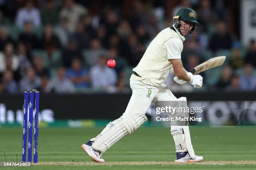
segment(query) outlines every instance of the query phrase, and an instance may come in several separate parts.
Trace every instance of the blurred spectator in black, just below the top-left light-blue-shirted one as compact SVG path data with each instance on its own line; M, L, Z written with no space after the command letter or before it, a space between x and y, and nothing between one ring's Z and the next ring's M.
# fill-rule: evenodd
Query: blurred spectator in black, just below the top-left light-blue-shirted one
M29 52L40 47L38 37L33 33L33 24L30 21L25 22L25 31L19 35L19 42L23 42Z

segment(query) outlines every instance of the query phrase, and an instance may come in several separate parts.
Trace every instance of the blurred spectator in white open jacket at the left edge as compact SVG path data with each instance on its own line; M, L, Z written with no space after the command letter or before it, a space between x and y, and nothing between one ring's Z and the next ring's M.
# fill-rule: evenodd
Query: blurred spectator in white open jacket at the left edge
M11 59L11 70L16 71L19 67L18 56L14 54L13 44L8 43L5 45L5 51L0 52L0 72L7 69L7 60Z

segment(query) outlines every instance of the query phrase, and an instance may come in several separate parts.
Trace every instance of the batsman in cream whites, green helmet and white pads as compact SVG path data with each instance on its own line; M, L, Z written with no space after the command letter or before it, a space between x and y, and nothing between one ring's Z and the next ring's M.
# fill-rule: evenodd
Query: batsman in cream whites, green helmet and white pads
M84 151L96 162L113 144L123 136L133 133L147 121L146 111L151 102L181 101L187 104L186 97L176 98L164 81L169 72L176 75L179 84L189 82L195 88L202 87L202 76L187 72L182 65L181 52L185 37L195 33L197 14L190 8L181 8L173 18L171 28L165 28L152 40L141 61L133 68L130 78L132 96L123 115L109 122L102 132L89 142L82 144ZM176 148L175 162L200 162L202 156L194 153L189 126L172 125L171 135Z

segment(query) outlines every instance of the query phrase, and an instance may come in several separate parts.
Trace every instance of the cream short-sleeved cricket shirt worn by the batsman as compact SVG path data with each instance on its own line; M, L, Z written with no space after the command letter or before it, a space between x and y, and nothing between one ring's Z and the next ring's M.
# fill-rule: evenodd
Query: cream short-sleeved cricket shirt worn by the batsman
M177 30L165 28L151 41L141 61L133 68L138 75L131 75L130 80L139 80L148 85L160 87L166 80L172 62L169 59L181 58L185 37Z

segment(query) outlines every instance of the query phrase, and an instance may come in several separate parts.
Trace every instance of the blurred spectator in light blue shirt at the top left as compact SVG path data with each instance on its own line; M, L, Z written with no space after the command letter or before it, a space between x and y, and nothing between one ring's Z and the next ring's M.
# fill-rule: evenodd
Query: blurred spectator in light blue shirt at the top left
M33 5L33 0L27 0L26 6L18 10L16 15L16 25L20 28L23 28L28 21L35 27L41 26L40 11Z

